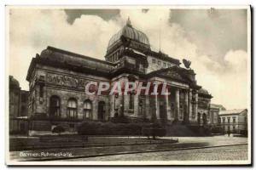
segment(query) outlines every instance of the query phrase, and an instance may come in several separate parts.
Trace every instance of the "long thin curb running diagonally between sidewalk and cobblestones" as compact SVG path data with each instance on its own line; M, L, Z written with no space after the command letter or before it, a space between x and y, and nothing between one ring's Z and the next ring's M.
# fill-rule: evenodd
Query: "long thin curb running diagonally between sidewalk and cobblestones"
M73 156L73 157L45 158L45 159L40 159L40 160L35 159L35 160L29 160L29 161L57 161L57 160L89 158L89 157L97 157L97 156L118 156L118 155L128 155L128 154L138 154L138 153L159 152L159 151L172 151L172 150L196 150L196 149L218 148L218 147L224 147L224 146L238 146L238 145L247 145L247 144L230 144L230 145L224 144L224 145L215 145L215 146L176 148L176 149L166 149L166 150L124 151L124 152L118 152L118 153L97 154L97 155L91 155L91 156Z

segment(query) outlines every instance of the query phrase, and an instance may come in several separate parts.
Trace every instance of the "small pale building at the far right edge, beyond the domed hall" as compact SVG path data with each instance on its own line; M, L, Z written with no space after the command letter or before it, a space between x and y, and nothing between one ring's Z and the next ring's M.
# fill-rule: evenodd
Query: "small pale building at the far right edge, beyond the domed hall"
M247 132L247 109L219 111L219 118L226 133Z

